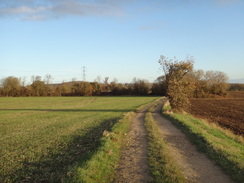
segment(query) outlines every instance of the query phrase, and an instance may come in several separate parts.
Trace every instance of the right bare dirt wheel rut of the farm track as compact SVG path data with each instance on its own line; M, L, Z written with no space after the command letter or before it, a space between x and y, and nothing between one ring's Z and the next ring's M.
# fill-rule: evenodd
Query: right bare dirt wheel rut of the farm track
M164 140L176 164L180 167L191 183L231 183L232 180L221 169L210 161L207 156L196 150L184 133L160 114L159 105L154 112L154 118L160 128Z

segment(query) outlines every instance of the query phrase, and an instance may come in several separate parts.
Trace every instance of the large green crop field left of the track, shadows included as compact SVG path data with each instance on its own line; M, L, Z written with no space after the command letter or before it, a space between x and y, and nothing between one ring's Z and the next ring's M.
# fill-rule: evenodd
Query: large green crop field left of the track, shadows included
M156 97L0 98L0 182L61 182L123 115Z

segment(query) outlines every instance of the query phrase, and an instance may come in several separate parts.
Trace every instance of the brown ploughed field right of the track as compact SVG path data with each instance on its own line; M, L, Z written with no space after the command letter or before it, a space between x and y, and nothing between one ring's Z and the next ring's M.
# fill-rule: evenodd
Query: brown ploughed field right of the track
M244 92L230 92L225 98L191 99L190 102L189 113L244 135Z

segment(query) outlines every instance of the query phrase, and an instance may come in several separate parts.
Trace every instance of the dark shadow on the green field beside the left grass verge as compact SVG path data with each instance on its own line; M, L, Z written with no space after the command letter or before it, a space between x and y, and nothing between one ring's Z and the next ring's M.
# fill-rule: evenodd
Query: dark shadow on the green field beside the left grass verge
M20 162L23 168L11 172L4 178L6 182L63 182L72 176L69 170L79 163L84 165L102 145L104 130L110 131L119 118L103 121L82 135L74 135L66 148L51 150L38 162ZM3 182L5 182L3 181ZM1 182L1 181L0 181Z

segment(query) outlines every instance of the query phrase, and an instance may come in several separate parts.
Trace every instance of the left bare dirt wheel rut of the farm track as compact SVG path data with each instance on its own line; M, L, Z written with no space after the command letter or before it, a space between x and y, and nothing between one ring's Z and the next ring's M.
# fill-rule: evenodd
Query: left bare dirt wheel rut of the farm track
M127 134L126 147L122 152L121 163L117 169L116 183L150 182L147 158L148 142L144 127L144 116L148 108L140 111L132 121Z

